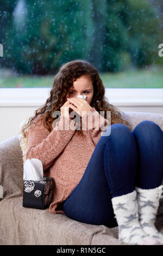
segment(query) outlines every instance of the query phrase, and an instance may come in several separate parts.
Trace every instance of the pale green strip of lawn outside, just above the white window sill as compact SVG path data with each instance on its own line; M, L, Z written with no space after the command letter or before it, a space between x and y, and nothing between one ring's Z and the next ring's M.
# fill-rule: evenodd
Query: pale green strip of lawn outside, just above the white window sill
M105 88L163 88L163 72L160 68L99 73ZM0 76L0 88L52 87L54 75Z

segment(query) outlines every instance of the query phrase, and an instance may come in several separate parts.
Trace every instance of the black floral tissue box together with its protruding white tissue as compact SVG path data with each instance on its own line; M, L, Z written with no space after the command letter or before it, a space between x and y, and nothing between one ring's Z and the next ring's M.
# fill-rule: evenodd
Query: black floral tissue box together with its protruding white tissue
M45 209L52 202L53 178L43 177L43 166L39 159L27 159L23 170L23 206Z

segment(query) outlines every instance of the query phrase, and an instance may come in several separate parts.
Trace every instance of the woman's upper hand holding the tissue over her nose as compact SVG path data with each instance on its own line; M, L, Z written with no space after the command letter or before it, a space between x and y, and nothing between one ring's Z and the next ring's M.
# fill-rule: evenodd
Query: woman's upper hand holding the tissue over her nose
M82 117L82 115L85 114L85 112L83 111L89 111L92 108L86 100L83 100L79 97L71 97L67 98L67 100L71 102L69 106L75 112L77 112L80 115L80 117Z

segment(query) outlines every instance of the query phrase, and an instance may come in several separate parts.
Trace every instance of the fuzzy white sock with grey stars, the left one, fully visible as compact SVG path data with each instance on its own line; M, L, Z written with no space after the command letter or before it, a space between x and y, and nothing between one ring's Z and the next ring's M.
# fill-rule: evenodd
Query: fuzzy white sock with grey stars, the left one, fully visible
M118 223L118 238L121 241L134 245L158 244L158 241L148 236L140 226L135 190L113 197L111 202Z

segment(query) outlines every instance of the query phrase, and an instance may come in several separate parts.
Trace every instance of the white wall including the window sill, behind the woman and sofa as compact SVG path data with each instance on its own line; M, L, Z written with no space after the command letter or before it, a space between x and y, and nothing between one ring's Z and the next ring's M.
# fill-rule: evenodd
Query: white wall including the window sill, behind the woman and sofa
M22 120L45 103L51 88L0 88L0 142L18 134ZM106 89L109 103L120 111L163 114L163 89Z

